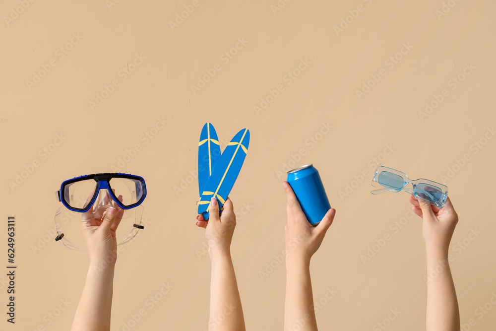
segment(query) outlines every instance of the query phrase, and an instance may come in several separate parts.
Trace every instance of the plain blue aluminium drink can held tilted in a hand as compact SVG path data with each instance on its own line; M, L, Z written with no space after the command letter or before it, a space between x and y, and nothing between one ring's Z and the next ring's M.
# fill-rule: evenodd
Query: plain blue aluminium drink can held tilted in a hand
M288 183L312 226L331 208L317 169L311 164L288 171Z

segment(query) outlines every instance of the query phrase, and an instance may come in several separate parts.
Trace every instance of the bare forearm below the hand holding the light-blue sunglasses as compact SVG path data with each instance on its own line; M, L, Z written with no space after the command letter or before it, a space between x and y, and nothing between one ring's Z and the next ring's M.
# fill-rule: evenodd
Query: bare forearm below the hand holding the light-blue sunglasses
M430 276L431 273L434 276ZM427 247L427 331L460 330L460 313L448 254Z

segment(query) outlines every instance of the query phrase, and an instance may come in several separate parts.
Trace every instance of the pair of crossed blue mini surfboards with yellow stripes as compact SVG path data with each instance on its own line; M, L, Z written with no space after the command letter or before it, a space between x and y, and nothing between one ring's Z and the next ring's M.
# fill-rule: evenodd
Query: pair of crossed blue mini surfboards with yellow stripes
M238 178L238 175L248 153L249 130L243 129L231 139L229 144L220 151L219 138L211 123L206 123L201 129L198 143L198 189L200 201L198 214L204 219L210 217L208 209L210 199L216 198L219 209L226 201Z

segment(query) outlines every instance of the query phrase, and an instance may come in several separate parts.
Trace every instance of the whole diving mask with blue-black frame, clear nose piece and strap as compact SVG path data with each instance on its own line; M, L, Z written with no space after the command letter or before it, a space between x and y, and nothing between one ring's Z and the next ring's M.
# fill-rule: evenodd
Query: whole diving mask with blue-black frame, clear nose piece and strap
M124 173L104 173L75 177L64 181L60 191L57 192L57 199L62 202L55 214L57 227L56 241L76 251L84 251L80 247L85 247L82 236L78 240L70 242L65 233L80 233L79 221L90 221L103 219L107 210L113 206L119 206L118 217L122 220L133 222L131 231L119 244L122 245L131 240L141 225L143 206L141 203L146 197L145 181L142 177ZM127 222L128 223L128 222ZM62 232L62 226L64 232ZM121 225L122 226L122 225ZM74 236L75 238L76 236Z

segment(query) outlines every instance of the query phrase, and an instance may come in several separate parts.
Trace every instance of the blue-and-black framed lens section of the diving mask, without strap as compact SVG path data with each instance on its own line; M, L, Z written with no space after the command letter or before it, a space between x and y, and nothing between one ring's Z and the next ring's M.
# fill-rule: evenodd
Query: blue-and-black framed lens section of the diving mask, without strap
M141 204L146 197L145 180L140 176L123 173L93 174L64 181L57 198L67 209L88 211L100 190L107 190L122 209Z

